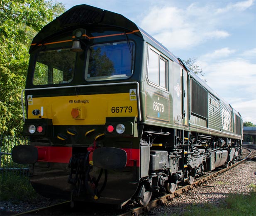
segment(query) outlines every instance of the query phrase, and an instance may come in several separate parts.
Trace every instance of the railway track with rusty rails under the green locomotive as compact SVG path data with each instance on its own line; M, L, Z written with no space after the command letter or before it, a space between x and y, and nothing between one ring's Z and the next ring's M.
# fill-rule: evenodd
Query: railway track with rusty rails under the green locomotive
M247 148L244 148L247 149ZM20 214L16 214L16 216L20 215L115 215L118 214L119 216L125 216L125 215L139 215L142 213L148 213L151 208L154 208L158 205L164 205L165 202L173 200L175 197L179 197L180 194L185 193L189 190L193 190L194 188L197 188L199 186L209 186L207 185L207 181L209 181L212 178L217 177L218 175L226 172L227 170L230 170L234 168L235 166L239 165L240 163L243 163L246 161L246 159L253 157L256 155L256 150L247 149L249 153L244 153L246 155L241 161L232 164L231 166L224 168L222 170L218 170L215 173L211 173L207 176L202 176L198 180L195 180L192 185L185 185L183 187L180 187L178 190L176 190L173 194L165 194L161 197L158 197L151 202L147 206L137 206L135 208L127 207L125 206L125 209L122 209L122 213L113 211L114 207L109 205L103 205L101 208L97 206L97 204L83 204L78 205L75 208L71 208L70 201L66 201L60 204L55 204L51 206L46 206L44 208L34 209L32 211L23 212ZM129 208L129 210L127 210ZM95 211L97 209L97 211ZM99 209L104 209L103 211L99 211Z

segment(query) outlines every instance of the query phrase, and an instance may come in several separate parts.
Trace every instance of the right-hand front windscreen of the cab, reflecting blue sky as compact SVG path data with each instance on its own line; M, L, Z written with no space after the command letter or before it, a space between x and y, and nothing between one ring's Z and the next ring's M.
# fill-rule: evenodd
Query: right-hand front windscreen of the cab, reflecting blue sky
M90 46L87 52L87 81L127 79L133 74L134 43L121 41Z

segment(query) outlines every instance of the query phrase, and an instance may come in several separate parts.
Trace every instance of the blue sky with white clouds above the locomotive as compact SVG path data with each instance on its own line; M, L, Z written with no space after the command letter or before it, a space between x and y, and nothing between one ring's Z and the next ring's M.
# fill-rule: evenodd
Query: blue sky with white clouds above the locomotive
M256 124L256 0L57 0L124 15L182 60Z

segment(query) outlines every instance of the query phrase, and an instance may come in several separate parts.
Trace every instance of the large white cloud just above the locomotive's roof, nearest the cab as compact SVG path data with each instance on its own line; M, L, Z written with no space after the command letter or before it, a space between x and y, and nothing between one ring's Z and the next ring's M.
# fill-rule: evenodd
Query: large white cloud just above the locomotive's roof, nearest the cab
M139 25L170 50L188 49L230 36L227 31L217 29L216 17L211 17L211 10L196 4L186 9L153 7Z

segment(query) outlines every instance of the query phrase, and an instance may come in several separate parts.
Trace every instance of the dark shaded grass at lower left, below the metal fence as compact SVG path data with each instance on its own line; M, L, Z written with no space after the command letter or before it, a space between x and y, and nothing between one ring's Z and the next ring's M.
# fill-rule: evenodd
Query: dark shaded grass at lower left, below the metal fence
M37 192L35 192L27 176L20 176L12 173L0 176L1 201L31 201L36 197Z

